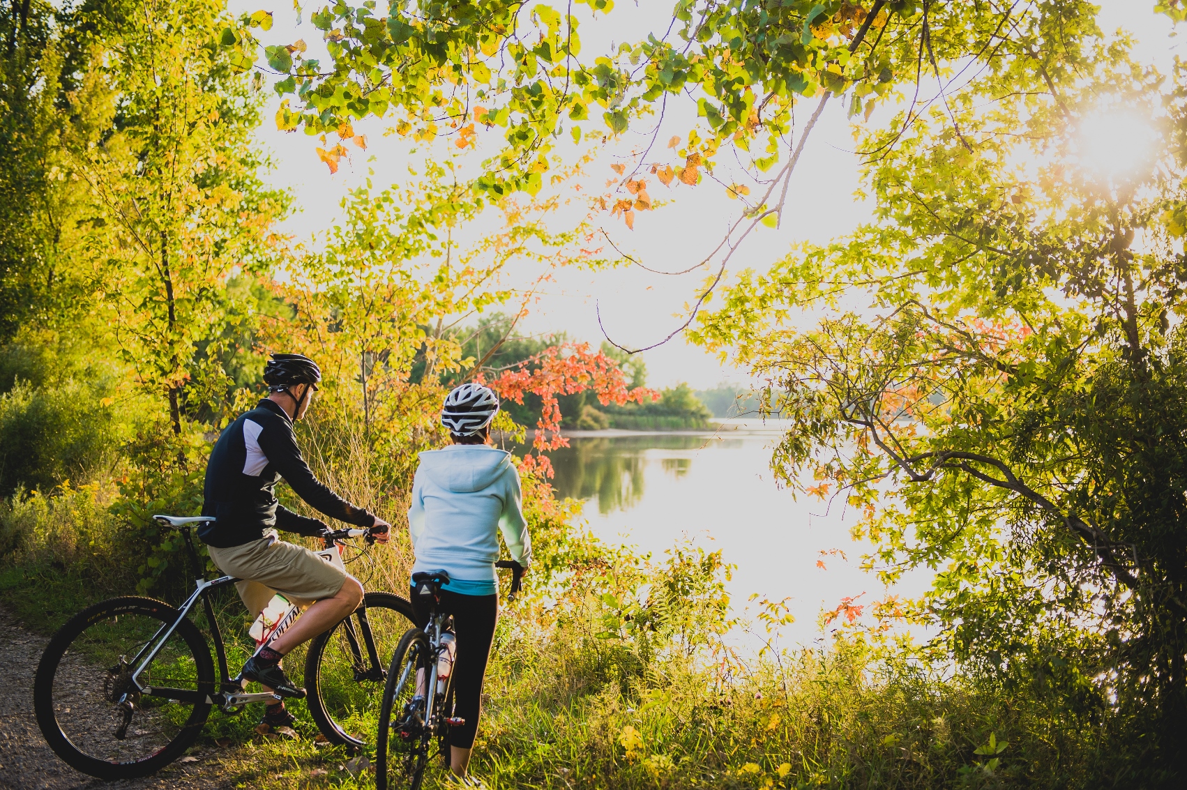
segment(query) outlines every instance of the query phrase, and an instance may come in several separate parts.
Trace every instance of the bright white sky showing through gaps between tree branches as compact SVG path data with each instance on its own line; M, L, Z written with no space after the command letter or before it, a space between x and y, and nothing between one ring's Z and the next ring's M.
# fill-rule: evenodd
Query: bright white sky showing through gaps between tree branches
M631 28L635 32L629 38L637 39L647 30L662 32L666 28L669 2L636 2L637 6L631 8L620 0L618 9L608 21L604 18L583 21L583 55L605 51L616 31ZM1181 44L1173 36L1169 20L1153 13L1153 5L1154 0L1105 0L1102 2L1100 25L1105 31L1124 27L1136 34L1140 57L1168 72L1173 57L1181 52ZM291 43L303 38L310 45L311 56L322 50L319 31L307 21L315 7L320 7L319 2L307 4L304 14L306 21L299 26L294 24L296 13L287 0L230 2L230 11L235 14L260 7L274 12L273 28L261 36L264 43ZM588 6L577 8L584 12L584 19L588 20ZM353 153L351 160L344 159L337 174L331 176L315 152L317 138L277 132L271 119L279 101L274 94L269 96L266 120L259 133L261 142L272 151L277 163L275 170L267 178L294 193L299 211L288 221L286 229L298 238L307 238L310 234L332 225L338 216L342 196L362 184L369 168L375 171L373 183L376 187L382 187L406 179L407 166L423 161L426 153L430 153L424 147L420 152L412 153L408 141L396 135L383 136L391 121L372 119L355 127L356 133L367 134L368 151ZM805 107L808 104L814 107L814 102L806 102ZM806 116L811 110L801 112ZM886 112L888 114L889 110ZM671 135L686 135L692 120L688 114L677 116L669 112L660 130L660 142L649 158L661 159L667 151L664 141ZM871 120L877 122L878 113ZM496 127L489 134L493 136L499 132ZM650 129L646 132L649 133ZM645 147L647 139L649 134L645 135L642 130L628 132L622 141L605 151L590 166L591 176L585 181L588 187L602 191L604 180L612 176L609 165L631 149ZM834 101L818 122L793 176L783 225L777 230L760 228L735 255L731 268L766 268L785 255L795 242L824 243L868 219L868 206L853 195L858 189L858 159L851 153L851 148L852 138L844 110L840 102ZM434 147L431 155L444 155L443 152L449 151L457 149L446 142ZM737 178L722 170L718 176ZM737 202L725 198L724 190L707 181L696 189L681 186L678 190L666 190L656 180L649 179L648 191L653 199L674 198L674 203L654 212L636 212L633 231L627 230L620 218L611 218L609 215L603 215L603 225L620 248L656 269L684 269L697 262L723 238L740 208ZM615 340L627 346L649 345L681 323L683 319L675 314L691 300L704 276L703 272L674 278L650 274L637 267L601 273L561 270L553 282L544 287L522 329L526 333L563 330L576 339L590 340L596 345L602 339L602 332L595 306L601 305L603 324ZM520 267L510 276L526 282L532 274L526 267ZM694 388L706 388L719 381L747 381L743 372L722 365L700 349L685 343L681 337L645 352L643 358L648 368L648 383L655 387L687 381Z

